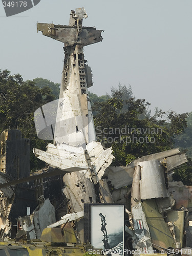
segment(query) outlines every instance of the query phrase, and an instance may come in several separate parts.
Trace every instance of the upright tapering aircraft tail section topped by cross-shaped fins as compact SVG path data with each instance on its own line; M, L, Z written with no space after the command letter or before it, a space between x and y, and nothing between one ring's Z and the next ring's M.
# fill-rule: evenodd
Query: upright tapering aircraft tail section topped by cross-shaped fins
M71 11L69 26L37 23L43 35L65 43L65 60L54 132L56 145L82 146L96 140L88 88L93 85L83 47L102 41L102 30L82 27L84 8Z

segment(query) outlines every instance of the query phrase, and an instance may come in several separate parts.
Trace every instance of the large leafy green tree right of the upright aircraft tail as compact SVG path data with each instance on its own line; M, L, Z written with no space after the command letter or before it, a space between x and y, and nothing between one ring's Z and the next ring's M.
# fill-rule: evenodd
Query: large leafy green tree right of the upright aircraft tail
M123 90L121 90L123 89ZM132 94L130 94L132 96ZM124 88L113 89L113 97L95 102L93 110L97 139L113 148L113 165L126 165L136 158L170 150L174 135L183 132L187 114L158 111L150 117L150 103L135 97L124 98ZM142 115L142 118L141 118ZM166 116L165 120L157 117Z

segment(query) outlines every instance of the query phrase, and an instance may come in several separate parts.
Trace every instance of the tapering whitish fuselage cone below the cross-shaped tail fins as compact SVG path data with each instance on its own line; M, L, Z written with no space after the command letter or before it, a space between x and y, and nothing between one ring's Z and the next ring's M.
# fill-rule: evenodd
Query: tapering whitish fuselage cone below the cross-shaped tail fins
M85 148L86 144L96 140L96 135L90 104L88 108L88 89L85 76L84 94L82 94L80 87L79 45L76 45L74 48L75 50L71 50L68 59L67 84L64 84L65 77L61 81L54 141L56 144L66 143ZM82 67L84 67L84 61L82 61ZM64 70L65 66L63 68L63 75L65 75Z

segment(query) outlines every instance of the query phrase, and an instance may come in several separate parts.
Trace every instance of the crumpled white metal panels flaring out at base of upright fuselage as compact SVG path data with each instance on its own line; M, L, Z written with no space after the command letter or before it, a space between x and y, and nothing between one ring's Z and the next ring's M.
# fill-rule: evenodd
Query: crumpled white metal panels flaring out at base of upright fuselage
M84 169L93 167L95 174L98 176L98 181L103 176L106 167L113 161L114 156L111 154L112 148L103 150L100 142L92 141L86 146L86 149L92 166L89 166L82 146L77 147L67 144L54 146L49 143L46 152L37 148L34 148L33 152L40 160L60 169L66 169L72 166L82 167Z

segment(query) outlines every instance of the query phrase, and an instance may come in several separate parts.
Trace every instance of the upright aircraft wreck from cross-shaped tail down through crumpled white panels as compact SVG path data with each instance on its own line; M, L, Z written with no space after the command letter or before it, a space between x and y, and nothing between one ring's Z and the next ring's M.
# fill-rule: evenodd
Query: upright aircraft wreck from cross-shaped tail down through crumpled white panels
M82 20L86 17L84 8L79 8L76 12L71 11L69 26L37 23L37 30L43 35L65 44L55 123L46 119L49 117L47 112L42 115L41 111L37 111L34 115L40 136L54 131L54 143L48 144L46 152L34 148L34 154L61 170L73 166L84 168L63 177L62 191L67 201L68 214L81 212L84 203L113 203L108 184L102 176L114 156L112 148L104 149L96 141L88 93L88 88L93 85L92 73L83 53L83 47L102 41L102 30L83 27ZM83 242L83 220L71 225L76 230L79 242Z

